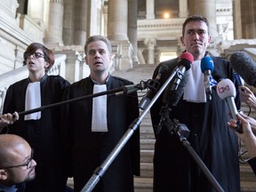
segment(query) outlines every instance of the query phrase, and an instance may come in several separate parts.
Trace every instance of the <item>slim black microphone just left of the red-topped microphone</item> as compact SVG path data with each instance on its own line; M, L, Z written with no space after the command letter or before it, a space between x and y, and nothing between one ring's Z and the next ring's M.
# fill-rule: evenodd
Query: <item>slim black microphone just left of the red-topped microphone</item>
M145 108L147 108L148 103L152 100L156 92L159 90L160 79L168 69L169 68L166 65L161 65L160 68L158 68L158 74L155 80L148 80L147 86L150 89L150 91L147 93L145 97L142 98L142 100L140 100L140 104L139 104L140 109L144 110Z

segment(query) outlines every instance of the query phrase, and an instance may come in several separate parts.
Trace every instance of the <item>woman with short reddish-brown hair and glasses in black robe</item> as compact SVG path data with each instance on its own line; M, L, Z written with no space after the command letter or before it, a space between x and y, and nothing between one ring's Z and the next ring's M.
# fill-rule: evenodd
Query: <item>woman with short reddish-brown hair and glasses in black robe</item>
M43 44L30 44L24 52L24 62L28 66L28 78L8 88L4 113L25 111L29 109L26 107L29 104L41 107L60 102L64 89L69 85L61 76L46 75L54 63L54 54ZM33 85L37 88L29 91L28 86ZM36 96L33 96L34 93ZM40 97L41 100L38 100ZM9 126L10 133L23 137L35 151L36 180L26 183L26 191L63 192L68 174L60 139L60 108L49 108L34 115L20 116L19 121Z

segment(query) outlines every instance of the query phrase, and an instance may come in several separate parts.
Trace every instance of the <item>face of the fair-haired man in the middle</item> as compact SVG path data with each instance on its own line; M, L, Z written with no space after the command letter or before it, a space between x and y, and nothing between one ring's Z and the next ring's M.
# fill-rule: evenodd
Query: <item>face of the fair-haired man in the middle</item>
M85 60L92 73L108 72L111 54L108 51L107 44L102 41L88 44Z

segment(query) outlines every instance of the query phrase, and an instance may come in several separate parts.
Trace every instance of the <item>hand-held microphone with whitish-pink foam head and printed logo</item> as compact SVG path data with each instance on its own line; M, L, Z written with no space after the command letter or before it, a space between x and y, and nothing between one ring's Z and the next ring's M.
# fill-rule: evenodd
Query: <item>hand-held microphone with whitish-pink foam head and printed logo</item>
M241 122L237 118L237 108L235 103L236 87L230 79L223 79L217 84L217 93L221 100L226 100L233 119L236 119L236 132L243 133Z

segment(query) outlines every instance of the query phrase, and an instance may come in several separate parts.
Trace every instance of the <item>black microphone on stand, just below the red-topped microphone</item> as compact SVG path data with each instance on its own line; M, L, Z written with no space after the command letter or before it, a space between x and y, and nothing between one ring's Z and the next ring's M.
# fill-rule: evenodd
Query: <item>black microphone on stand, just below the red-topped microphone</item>
M188 71L185 71L184 76L180 81L180 86L178 86L177 90L172 90L172 84L168 84L168 86L166 87L163 96L163 102L165 105L161 108L161 111L159 113L159 115L162 117L157 126L156 134L158 134L161 131L162 126L164 124L172 124L169 115L170 112L172 111L172 107L177 106L181 96L184 93L184 87L188 83L188 76ZM170 129L170 127L167 128Z

